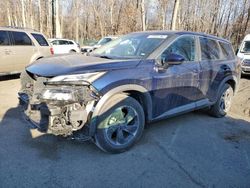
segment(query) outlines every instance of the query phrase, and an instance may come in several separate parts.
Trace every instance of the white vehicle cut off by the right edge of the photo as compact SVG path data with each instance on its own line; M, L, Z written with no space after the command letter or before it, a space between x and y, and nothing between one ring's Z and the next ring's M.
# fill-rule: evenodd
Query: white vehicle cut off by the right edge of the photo
M242 74L250 75L250 34L247 35L241 43L237 56L242 61Z

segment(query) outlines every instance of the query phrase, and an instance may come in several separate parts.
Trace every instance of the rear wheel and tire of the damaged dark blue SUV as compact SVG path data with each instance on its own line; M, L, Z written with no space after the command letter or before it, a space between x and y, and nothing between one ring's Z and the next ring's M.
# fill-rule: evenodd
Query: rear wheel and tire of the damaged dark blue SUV
M219 94L216 103L211 106L209 113L217 118L224 117L231 108L233 98L233 88L229 84L225 84Z

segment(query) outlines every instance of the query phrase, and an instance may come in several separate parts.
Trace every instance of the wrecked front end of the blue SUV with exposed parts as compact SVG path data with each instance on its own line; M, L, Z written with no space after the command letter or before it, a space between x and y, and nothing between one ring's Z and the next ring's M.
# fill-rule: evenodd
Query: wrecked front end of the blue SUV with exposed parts
M20 105L27 119L40 131L70 136L88 125L92 110L99 100L98 92L85 75L38 77L21 74Z

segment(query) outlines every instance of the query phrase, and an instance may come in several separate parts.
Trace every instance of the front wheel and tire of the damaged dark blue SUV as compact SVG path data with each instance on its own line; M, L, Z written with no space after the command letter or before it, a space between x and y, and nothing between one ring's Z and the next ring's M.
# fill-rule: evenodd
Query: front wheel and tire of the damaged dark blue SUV
M139 140L144 124L144 111L137 100L124 94L114 95L98 114L96 145L105 152L124 152Z

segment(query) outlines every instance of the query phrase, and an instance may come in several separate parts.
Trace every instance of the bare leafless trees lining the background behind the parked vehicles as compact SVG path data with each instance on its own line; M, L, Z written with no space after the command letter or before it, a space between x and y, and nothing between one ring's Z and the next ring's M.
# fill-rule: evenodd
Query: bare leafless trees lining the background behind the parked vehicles
M0 25L78 42L143 30L188 30L229 39L250 33L250 0L1 0Z

